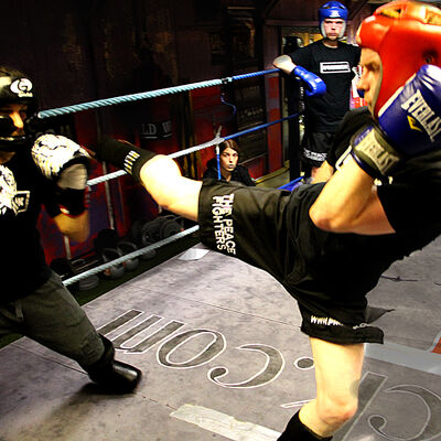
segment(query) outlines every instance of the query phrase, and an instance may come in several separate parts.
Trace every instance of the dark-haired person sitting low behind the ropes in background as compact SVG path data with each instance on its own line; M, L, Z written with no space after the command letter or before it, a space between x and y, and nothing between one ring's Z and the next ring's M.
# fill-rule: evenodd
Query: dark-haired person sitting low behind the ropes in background
M238 165L239 146L233 139L228 139L219 144L219 163L220 163L220 180L227 182L239 182L247 186L255 186L256 183L249 175L248 169L244 165ZM218 179L217 159L212 158L207 162L203 179Z

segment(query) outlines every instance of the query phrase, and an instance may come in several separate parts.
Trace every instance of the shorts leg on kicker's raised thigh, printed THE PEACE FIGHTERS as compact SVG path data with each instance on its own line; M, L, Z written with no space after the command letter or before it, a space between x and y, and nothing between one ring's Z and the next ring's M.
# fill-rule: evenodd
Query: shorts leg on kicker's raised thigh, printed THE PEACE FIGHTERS
M286 209L290 195L281 190L205 180L198 204L202 243L280 280L288 243Z

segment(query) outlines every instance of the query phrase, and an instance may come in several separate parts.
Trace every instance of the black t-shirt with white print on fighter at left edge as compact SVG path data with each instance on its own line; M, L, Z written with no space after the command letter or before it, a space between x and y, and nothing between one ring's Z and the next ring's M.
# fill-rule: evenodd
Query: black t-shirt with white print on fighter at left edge
M0 164L1 303L32 293L50 276L36 229L42 204L51 216L60 214L53 184L29 150Z

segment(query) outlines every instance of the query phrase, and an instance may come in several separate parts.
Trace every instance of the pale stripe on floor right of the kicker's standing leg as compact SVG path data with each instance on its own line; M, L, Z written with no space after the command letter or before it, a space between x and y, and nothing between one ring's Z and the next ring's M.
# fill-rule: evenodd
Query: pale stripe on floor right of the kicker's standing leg
M365 344L365 355L380 362L441 375L441 355L396 343Z

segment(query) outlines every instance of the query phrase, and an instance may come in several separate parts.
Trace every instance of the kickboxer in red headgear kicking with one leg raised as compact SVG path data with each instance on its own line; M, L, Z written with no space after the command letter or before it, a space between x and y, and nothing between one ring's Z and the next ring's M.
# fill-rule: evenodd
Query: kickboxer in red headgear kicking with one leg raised
M292 193L193 181L172 159L127 142L94 147L159 205L197 220L207 247L266 270L298 301L316 396L280 441L331 440L355 416L364 344L384 342L367 294L392 262L441 234L440 35L441 11L413 1L362 23L358 87L372 115L362 127L345 117L334 173Z

